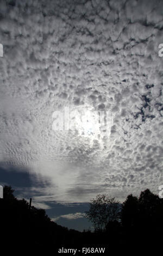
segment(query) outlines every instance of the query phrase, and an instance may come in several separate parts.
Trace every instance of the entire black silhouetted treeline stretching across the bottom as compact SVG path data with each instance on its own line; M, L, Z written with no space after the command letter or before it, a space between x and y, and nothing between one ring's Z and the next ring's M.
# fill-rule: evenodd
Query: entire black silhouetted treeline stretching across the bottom
M59 248L105 247L105 254L115 254L130 249L158 248L163 241L163 199L149 190L140 193L139 197L130 194L120 205L110 201L116 218L106 221L106 210L109 204L101 201L101 223L104 228L94 232L68 230L51 221L45 210L29 207L29 203L14 197L14 190L4 186L4 198L0 199L1 248L8 252L26 253L45 252L58 254ZM96 206L97 202L95 200ZM115 205L118 205L118 214ZM98 205L99 206L99 205ZM104 207L105 206L105 207ZM91 209L91 208L90 208ZM97 210L97 208L93 208ZM121 209L121 210L120 210ZM95 211L95 218L99 208ZM110 211L111 213L113 211ZM109 213L110 214L110 213ZM99 223L99 221L98 221ZM100 224L100 223L99 223ZM23 250L23 251L22 251ZM66 254L72 255L72 254ZM83 255L78 252L77 255Z

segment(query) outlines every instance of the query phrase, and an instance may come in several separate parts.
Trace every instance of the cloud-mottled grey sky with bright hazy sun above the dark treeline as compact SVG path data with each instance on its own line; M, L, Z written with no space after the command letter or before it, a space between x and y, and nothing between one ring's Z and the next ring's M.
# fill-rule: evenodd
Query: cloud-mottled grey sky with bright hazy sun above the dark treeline
M97 194L158 194L162 29L158 0L1 0L0 184L78 230Z

